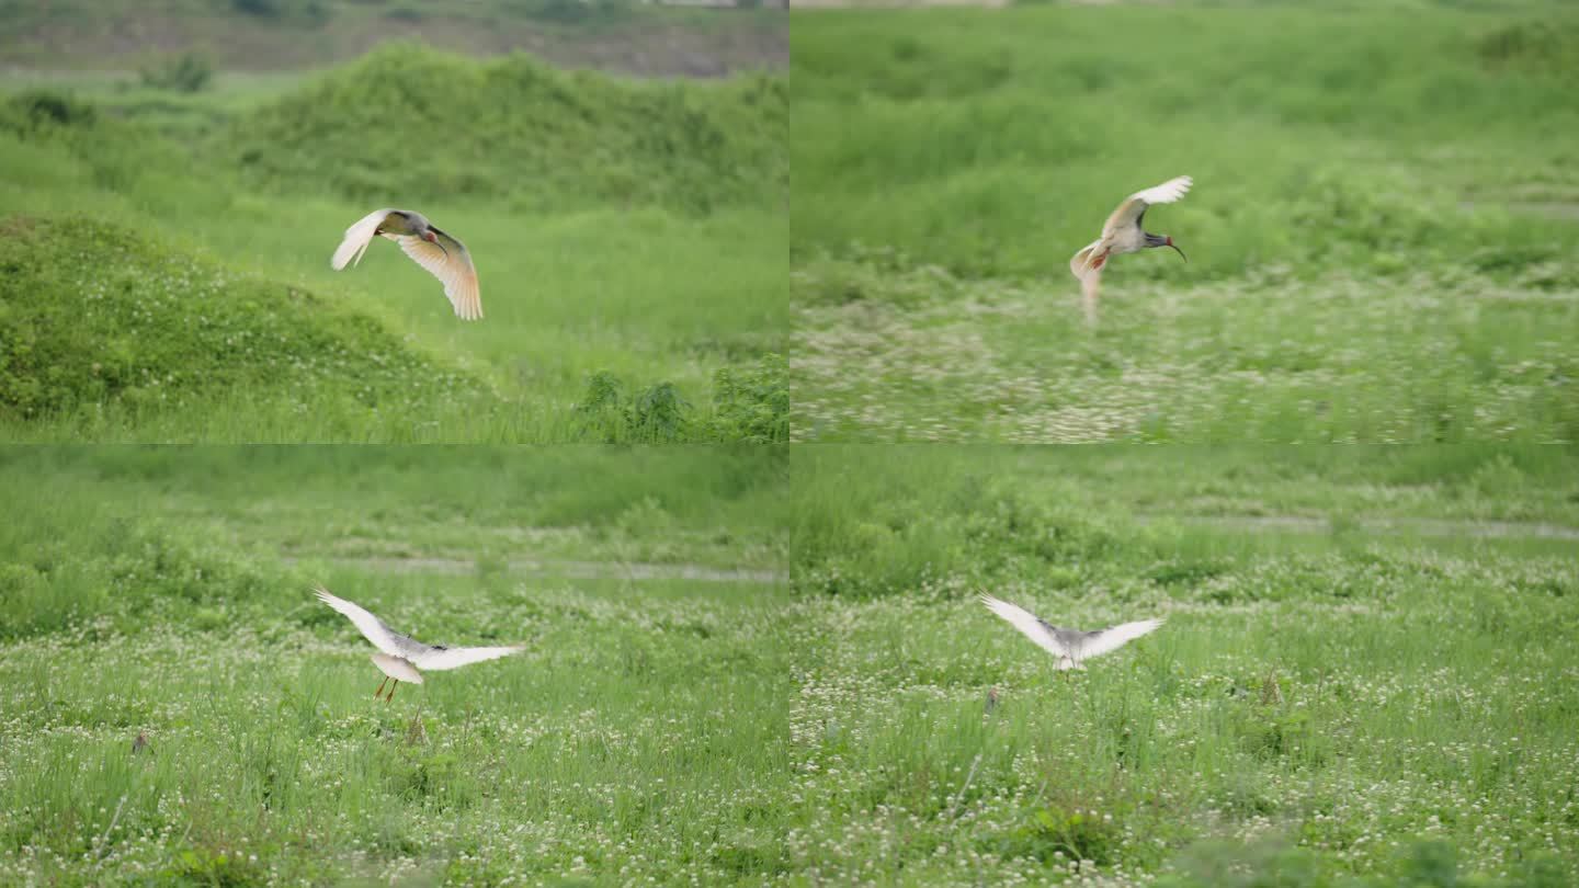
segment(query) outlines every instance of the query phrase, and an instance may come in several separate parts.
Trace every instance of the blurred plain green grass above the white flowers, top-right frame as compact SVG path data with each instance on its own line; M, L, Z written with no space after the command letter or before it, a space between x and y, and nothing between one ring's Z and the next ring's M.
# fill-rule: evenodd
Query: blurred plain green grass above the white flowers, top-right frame
M1189 265L1113 281L1571 256L1579 19L1374 6L797 16L796 256L1067 280L1126 194L1183 174L1146 223Z

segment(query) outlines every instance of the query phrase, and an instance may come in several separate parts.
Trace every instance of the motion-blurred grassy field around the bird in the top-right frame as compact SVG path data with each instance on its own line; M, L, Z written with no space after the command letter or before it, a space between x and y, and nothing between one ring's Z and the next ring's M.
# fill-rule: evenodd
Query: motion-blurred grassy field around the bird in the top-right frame
M793 16L796 439L1579 438L1573 11L1202 6Z

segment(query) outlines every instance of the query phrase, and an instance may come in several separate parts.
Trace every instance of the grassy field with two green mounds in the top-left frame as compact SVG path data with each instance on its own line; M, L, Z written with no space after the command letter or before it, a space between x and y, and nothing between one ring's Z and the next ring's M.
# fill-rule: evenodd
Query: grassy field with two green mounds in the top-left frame
M0 107L0 226L21 232L6 438L788 436L777 77L643 84L406 44L193 96L38 82ZM392 204L467 243L485 321L456 321L393 245L328 269Z

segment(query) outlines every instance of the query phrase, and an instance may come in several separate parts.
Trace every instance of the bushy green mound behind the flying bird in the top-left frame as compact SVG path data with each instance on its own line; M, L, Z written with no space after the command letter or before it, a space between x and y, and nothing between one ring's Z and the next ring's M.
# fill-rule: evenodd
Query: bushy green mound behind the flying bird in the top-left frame
M706 212L783 205L786 137L775 77L649 84L390 44L242 117L227 145L262 180L352 199Z

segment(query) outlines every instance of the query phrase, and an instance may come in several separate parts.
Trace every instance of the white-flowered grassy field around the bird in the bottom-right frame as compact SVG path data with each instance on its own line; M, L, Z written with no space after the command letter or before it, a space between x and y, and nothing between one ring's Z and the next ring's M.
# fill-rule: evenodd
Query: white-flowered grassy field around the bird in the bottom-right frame
M1574 468L1551 449L797 449L786 866L1571 883ZM1391 531L1367 531L1380 515ZM1061 676L976 588L1064 626L1168 621Z

